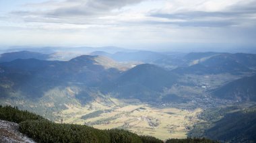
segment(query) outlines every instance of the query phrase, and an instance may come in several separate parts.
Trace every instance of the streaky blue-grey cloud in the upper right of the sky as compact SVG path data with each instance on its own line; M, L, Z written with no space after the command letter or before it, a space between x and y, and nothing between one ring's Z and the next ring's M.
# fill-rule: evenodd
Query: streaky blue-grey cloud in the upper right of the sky
M205 3L201 3L204 5ZM163 24L178 26L226 27L242 26L244 23L255 23L256 1L238 2L218 11L199 11L199 9L181 9L179 11L154 11L150 17L179 19L182 22L162 21ZM253 18L254 17L254 18ZM159 22L160 23L160 22Z

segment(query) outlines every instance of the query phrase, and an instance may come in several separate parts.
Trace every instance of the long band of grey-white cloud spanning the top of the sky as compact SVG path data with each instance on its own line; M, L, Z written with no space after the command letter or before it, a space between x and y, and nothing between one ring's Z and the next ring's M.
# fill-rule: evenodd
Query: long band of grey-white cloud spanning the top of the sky
M147 0L65 0L26 5L30 11L11 14L27 22L99 25L174 25L190 27L227 27L255 24L255 0L168 0L160 9L124 9ZM149 0L148 0L149 1ZM48 7L48 8L47 8ZM137 18L139 17L139 18Z

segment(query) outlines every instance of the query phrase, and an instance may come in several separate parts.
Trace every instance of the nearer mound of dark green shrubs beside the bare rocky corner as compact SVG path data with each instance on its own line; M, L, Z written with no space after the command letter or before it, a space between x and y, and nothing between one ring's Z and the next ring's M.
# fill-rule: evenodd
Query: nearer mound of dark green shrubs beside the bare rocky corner
M56 124L49 121L26 121L20 131L37 142L142 142L137 134L126 130L98 130L75 124Z

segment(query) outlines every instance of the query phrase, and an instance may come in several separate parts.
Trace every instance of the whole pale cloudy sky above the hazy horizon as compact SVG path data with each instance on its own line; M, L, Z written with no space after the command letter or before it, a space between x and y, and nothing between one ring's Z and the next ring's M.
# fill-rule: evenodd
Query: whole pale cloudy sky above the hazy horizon
M0 0L0 46L256 47L256 0Z

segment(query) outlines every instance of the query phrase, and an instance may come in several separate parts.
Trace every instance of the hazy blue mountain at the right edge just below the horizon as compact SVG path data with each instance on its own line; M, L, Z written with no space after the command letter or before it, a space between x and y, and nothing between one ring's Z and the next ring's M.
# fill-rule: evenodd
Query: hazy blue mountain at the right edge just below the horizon
M252 72L255 68L255 54L229 54L229 53L190 53L185 57L184 67L174 69L180 74L222 74L239 75Z

